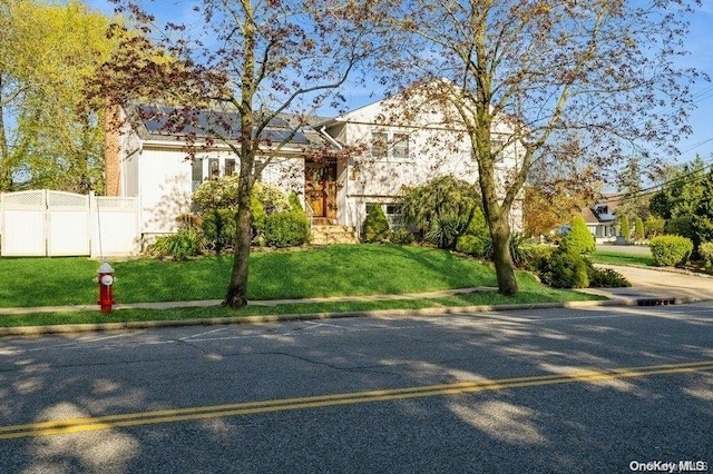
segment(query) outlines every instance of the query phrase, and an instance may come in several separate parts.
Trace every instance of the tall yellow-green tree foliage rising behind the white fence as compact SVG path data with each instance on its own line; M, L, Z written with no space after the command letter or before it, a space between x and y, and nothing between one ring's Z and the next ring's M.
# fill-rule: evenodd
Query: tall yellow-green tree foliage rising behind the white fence
M104 189L102 120L80 106L109 23L76 0L0 2L0 191L20 170L35 188Z

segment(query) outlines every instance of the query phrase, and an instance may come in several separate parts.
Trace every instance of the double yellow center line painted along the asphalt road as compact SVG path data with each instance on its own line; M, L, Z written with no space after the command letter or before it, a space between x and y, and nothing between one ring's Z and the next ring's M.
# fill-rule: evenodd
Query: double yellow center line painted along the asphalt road
M196 406L188 408L160 409L152 412L127 413L85 418L51 419L22 425L0 426L0 440L19 437L51 436L128 426L141 426L162 423L176 423L229 416L246 416L264 413L287 412L307 408L322 408L339 405L355 405L368 402L390 402L408 398L422 398L448 395L462 395L476 392L507 388L534 387L541 385L594 383L618 378L646 377L651 375L680 374L713 369L713 361L687 364L667 364L645 367L616 369L587 369L566 374L537 375L531 377L499 378L495 381L460 382L452 384L426 385L416 387L352 392L330 395L316 395L297 398L243 402L226 405Z

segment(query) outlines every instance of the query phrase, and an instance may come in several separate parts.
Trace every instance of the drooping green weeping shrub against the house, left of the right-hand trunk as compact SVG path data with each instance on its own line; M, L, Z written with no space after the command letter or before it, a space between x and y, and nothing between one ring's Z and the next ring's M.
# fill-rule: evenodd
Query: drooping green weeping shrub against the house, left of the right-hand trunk
M475 185L451 176L404 187L402 196L403 221L418 228L428 241L448 249L456 248L481 204Z

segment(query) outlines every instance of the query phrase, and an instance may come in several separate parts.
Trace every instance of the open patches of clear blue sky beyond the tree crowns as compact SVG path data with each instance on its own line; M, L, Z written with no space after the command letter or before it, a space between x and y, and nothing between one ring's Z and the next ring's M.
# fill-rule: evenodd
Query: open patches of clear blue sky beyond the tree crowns
M92 9L107 14L114 12L114 4L108 0L86 1ZM146 2L147 9L159 22L178 23L191 19L192 11L188 3L180 0ZM691 20L691 33L686 45L691 55L682 59L682 66L693 66L713 79L713 0L702 0L701 8ZM678 146L681 156L676 161L690 161L696 154L707 161L713 161L713 82L701 80L692 87L692 91L696 102L696 107L690 111L693 135L681 141ZM348 109L353 110L381 99L381 93L373 88L352 87L346 90L345 98Z

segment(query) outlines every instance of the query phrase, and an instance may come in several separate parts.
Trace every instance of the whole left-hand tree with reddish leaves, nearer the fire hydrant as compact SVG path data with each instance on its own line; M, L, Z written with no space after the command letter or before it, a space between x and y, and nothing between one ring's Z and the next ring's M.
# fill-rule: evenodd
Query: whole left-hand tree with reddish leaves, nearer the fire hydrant
M222 141L240 158L238 231L224 304L243 306L255 177L310 117L328 106L339 108L348 77L359 75L375 49L389 46L382 41L388 31L372 21L382 12L353 0L206 0L194 2L191 24L159 29L137 4L121 3L119 11L130 13L156 46L143 34L123 33L124 46L90 89L117 103L166 102L170 91L170 101L180 107L166 127L195 125L206 107L223 111L211 127L204 124L208 138L202 145ZM285 113L291 131L270 134L270 125Z

